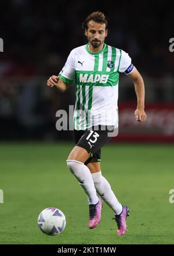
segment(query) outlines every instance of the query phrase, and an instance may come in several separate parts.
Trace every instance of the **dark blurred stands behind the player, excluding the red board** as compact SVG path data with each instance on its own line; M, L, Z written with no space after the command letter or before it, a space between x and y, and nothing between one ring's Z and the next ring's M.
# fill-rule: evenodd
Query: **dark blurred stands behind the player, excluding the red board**
M147 102L173 101L174 53L169 52L169 38L173 37L174 22L172 8L164 1L146 4L110 1L105 5L100 1L90 4L77 0L3 1L1 139L59 138L55 113L74 103L74 85L63 95L46 88L46 80L59 73L71 49L86 44L81 24L95 10L104 12L109 19L106 43L128 52L133 64L149 81L147 92L154 89L147 94ZM135 100L131 82L123 81L119 99Z

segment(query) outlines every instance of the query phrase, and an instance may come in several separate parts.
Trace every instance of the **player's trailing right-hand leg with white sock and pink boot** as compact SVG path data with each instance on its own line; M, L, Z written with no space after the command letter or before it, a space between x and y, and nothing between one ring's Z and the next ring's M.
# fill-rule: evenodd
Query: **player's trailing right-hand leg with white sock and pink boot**
M99 155L97 158L99 158ZM126 232L126 217L129 216L129 209L125 205L120 204L117 197L115 197L110 184L105 177L102 176L100 162L89 162L87 166L92 174L97 193L102 197L106 204L113 209L115 214L114 219L118 226L117 234L122 236Z

